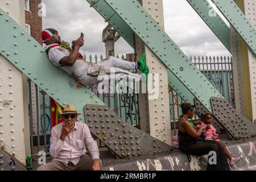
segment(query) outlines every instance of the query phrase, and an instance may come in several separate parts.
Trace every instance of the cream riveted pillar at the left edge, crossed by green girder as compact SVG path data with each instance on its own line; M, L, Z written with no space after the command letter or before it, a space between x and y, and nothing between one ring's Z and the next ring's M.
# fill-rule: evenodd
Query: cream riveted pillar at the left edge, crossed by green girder
M24 1L0 1L5 10L24 27ZM26 165L30 154L27 78L0 55L0 144Z

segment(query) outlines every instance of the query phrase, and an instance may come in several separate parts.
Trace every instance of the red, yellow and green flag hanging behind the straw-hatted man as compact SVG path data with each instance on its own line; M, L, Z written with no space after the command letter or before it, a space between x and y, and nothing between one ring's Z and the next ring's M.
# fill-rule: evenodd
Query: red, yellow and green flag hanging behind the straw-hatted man
M52 127L58 125L63 122L63 118L58 116L58 114L62 113L63 107L61 107L53 98L51 100L51 120Z

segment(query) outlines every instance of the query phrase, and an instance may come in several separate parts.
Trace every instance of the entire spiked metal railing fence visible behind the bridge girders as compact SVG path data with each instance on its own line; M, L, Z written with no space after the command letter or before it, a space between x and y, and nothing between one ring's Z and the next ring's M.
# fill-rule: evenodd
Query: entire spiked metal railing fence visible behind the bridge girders
M117 56L121 59L135 61L134 54L126 56ZM103 60L103 56L85 55L84 59L88 62L97 63ZM234 105L233 92L233 72L232 57L225 56L207 56L195 57L191 56L190 60L196 64L196 67L204 73L205 77L220 91L220 93ZM135 70L131 72L136 72ZM116 85L117 82L114 83ZM139 126L139 110L138 110L138 94L137 85L133 82L133 89L127 87L126 93L98 93L97 86L90 89L96 94L106 105L108 105L123 121L130 123L135 127ZM37 85L28 80L28 88L30 90L30 127L31 127L31 153L37 155L40 150L48 151L49 137L51 134L51 105L49 96L38 88ZM34 88L34 93L33 89ZM110 89L110 88L109 88ZM181 115L180 104L184 100L175 91L170 88L170 115L171 115L171 135L177 134L177 121ZM194 119L199 117L195 115ZM100 147L104 144L97 140Z

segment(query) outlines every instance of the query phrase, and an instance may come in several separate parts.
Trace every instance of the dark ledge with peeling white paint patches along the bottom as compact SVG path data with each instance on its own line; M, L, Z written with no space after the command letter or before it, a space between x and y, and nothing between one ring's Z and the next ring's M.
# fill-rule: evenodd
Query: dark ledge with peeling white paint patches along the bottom
M256 170L256 138L225 142L232 156L241 156L240 162L230 167L233 171ZM204 171L208 156L191 155L191 163L186 154L179 150L162 152L131 159L114 159L109 152L101 152L104 171Z

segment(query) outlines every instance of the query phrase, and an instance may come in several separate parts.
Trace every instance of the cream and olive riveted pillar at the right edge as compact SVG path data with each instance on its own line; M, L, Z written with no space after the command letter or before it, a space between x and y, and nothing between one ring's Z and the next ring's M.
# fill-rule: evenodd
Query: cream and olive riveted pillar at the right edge
M254 0L237 0L237 5L256 28ZM256 59L245 42L232 32L232 55L236 109L251 121L256 119Z

